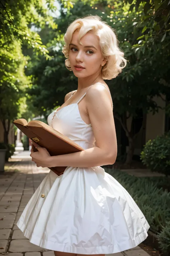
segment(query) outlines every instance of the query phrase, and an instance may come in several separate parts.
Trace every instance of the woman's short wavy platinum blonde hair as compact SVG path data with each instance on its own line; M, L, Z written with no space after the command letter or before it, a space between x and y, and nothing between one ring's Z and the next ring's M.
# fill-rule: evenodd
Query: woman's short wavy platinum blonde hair
M88 15L84 18L77 18L67 28L64 36L66 44L62 49L63 54L67 58L65 60L66 68L72 71L69 63L69 51L72 35L76 30L79 31L78 41L81 45L81 37L89 31L94 32L94 34L99 37L102 55L107 60L101 70L102 79L110 80L117 77L117 75L122 72L122 69L126 67L127 61L123 58L124 52L118 47L118 40L114 29L106 22L102 21L98 15Z

